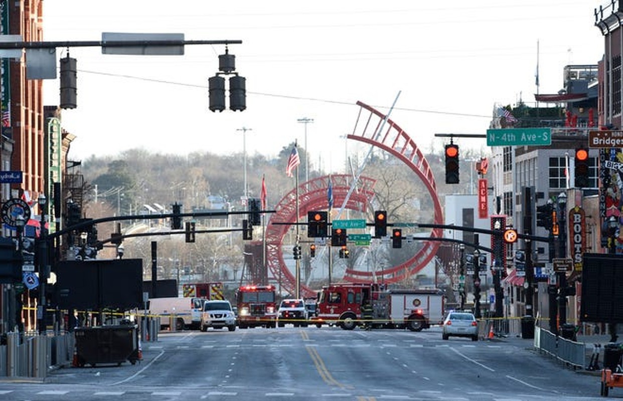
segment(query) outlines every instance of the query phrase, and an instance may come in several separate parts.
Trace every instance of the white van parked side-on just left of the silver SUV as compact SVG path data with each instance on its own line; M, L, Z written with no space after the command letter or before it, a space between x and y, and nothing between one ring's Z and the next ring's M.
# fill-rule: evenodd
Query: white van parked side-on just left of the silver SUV
M150 298L147 309L160 318L160 329L169 328L174 321L176 330L199 329L206 300L194 297Z

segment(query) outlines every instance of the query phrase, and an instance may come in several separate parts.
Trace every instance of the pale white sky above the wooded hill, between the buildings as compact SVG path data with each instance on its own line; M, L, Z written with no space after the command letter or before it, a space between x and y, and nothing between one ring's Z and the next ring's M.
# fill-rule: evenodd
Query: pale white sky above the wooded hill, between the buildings
M594 9L601 5L607 2L56 0L44 2L44 40L101 40L102 32L242 40L229 45L246 78L242 112L208 109L207 80L224 45L187 45L176 56L69 49L78 66L77 108L62 112L64 129L77 136L70 159L133 148L228 155L242 153L244 143L247 154L270 157L296 140L307 141L310 169L341 172L347 154L367 149L345 139L356 101L383 113L395 101L390 118L424 153L449 142L435 133L485 134L495 104L533 106L535 93L563 87L565 65L597 64L604 41ZM44 81L44 103L59 103L59 79ZM313 119L307 134L302 118ZM488 153L485 139L454 141Z

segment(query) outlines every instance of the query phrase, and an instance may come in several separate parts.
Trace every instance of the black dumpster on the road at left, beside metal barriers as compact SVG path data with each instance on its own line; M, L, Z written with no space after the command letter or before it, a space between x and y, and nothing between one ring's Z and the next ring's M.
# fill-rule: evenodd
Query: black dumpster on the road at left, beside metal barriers
M97 326L74 330L76 364L117 364L140 359L138 351L138 326Z

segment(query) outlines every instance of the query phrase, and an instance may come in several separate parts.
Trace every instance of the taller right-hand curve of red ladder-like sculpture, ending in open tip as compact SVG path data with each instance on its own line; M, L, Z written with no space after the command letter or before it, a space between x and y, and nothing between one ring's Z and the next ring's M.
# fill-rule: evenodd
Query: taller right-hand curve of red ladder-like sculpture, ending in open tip
M354 126L353 133L348 135L348 139L354 139L364 143L372 144L377 148L381 148L388 153L396 156L404 164L409 166L413 172L424 182L426 189L429 191L430 197L434 204L434 224L443 224L444 215L441 209L441 203L437 196L437 186L435 184L435 177L430 169L430 165L424 158L421 150L417 147L416 143L411 139L407 133L400 128L394 121L386 118L383 113L375 110L373 107L357 102L357 105L361 107L359 115ZM366 113L369 114L366 118ZM362 119L362 116L364 117ZM384 124L383 124L384 122ZM381 131L383 128L383 131ZM442 237L441 229L433 229L431 237ZM346 270L345 280L350 281L370 281L372 276L378 277L383 275L386 283L395 283L396 281L403 280L407 276L411 276L430 262L430 260L437 253L440 243L435 241L426 241L424 246L406 262L401 265L397 265L391 268L387 268L381 271L358 271L358 270Z

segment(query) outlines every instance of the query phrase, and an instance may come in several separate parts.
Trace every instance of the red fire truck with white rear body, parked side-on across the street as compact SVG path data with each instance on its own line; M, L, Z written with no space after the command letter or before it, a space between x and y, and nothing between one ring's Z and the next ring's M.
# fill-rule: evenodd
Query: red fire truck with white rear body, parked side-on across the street
M336 283L318 293L316 327L323 324L352 330L363 324L361 306L369 301L375 328L421 331L441 324L444 295L440 290L388 290L377 283Z

